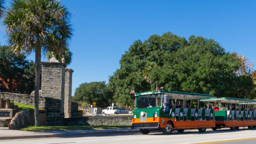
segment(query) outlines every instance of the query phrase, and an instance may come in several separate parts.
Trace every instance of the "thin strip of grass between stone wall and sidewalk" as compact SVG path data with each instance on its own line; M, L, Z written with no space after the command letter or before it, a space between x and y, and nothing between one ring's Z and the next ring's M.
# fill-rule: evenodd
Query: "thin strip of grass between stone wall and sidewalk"
M132 125L72 125L72 126L28 126L22 128L22 131L45 132L45 131L75 131L75 130L102 130L102 129L127 129Z

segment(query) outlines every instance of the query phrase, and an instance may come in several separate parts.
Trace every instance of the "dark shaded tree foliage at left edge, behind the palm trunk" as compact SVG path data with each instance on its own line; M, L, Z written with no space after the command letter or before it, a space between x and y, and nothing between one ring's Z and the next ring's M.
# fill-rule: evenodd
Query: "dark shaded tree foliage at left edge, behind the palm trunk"
M24 54L14 53L10 46L0 46L0 78L9 92L30 94L35 83L34 62Z

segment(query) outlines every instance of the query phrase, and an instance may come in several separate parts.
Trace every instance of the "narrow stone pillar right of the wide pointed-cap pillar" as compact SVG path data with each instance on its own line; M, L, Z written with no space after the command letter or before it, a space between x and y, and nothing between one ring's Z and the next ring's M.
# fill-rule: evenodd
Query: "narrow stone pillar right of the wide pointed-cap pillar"
M65 97L64 97L64 114L65 117L71 117L71 90L72 90L72 69L65 69Z

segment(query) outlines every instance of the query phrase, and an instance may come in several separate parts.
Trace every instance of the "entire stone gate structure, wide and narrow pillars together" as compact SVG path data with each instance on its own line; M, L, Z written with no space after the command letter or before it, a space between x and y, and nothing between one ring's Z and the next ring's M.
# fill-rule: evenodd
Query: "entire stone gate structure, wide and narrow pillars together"
M64 117L71 117L72 69L65 68L54 55L42 62L41 96L45 98L47 124L60 123Z

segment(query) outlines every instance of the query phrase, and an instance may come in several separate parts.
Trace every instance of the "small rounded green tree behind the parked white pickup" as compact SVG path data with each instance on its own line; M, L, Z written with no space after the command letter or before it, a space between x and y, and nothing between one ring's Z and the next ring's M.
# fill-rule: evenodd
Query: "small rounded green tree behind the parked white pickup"
M76 88L73 100L92 103L95 101L97 107L105 108L110 105L113 94L105 82L83 83Z

